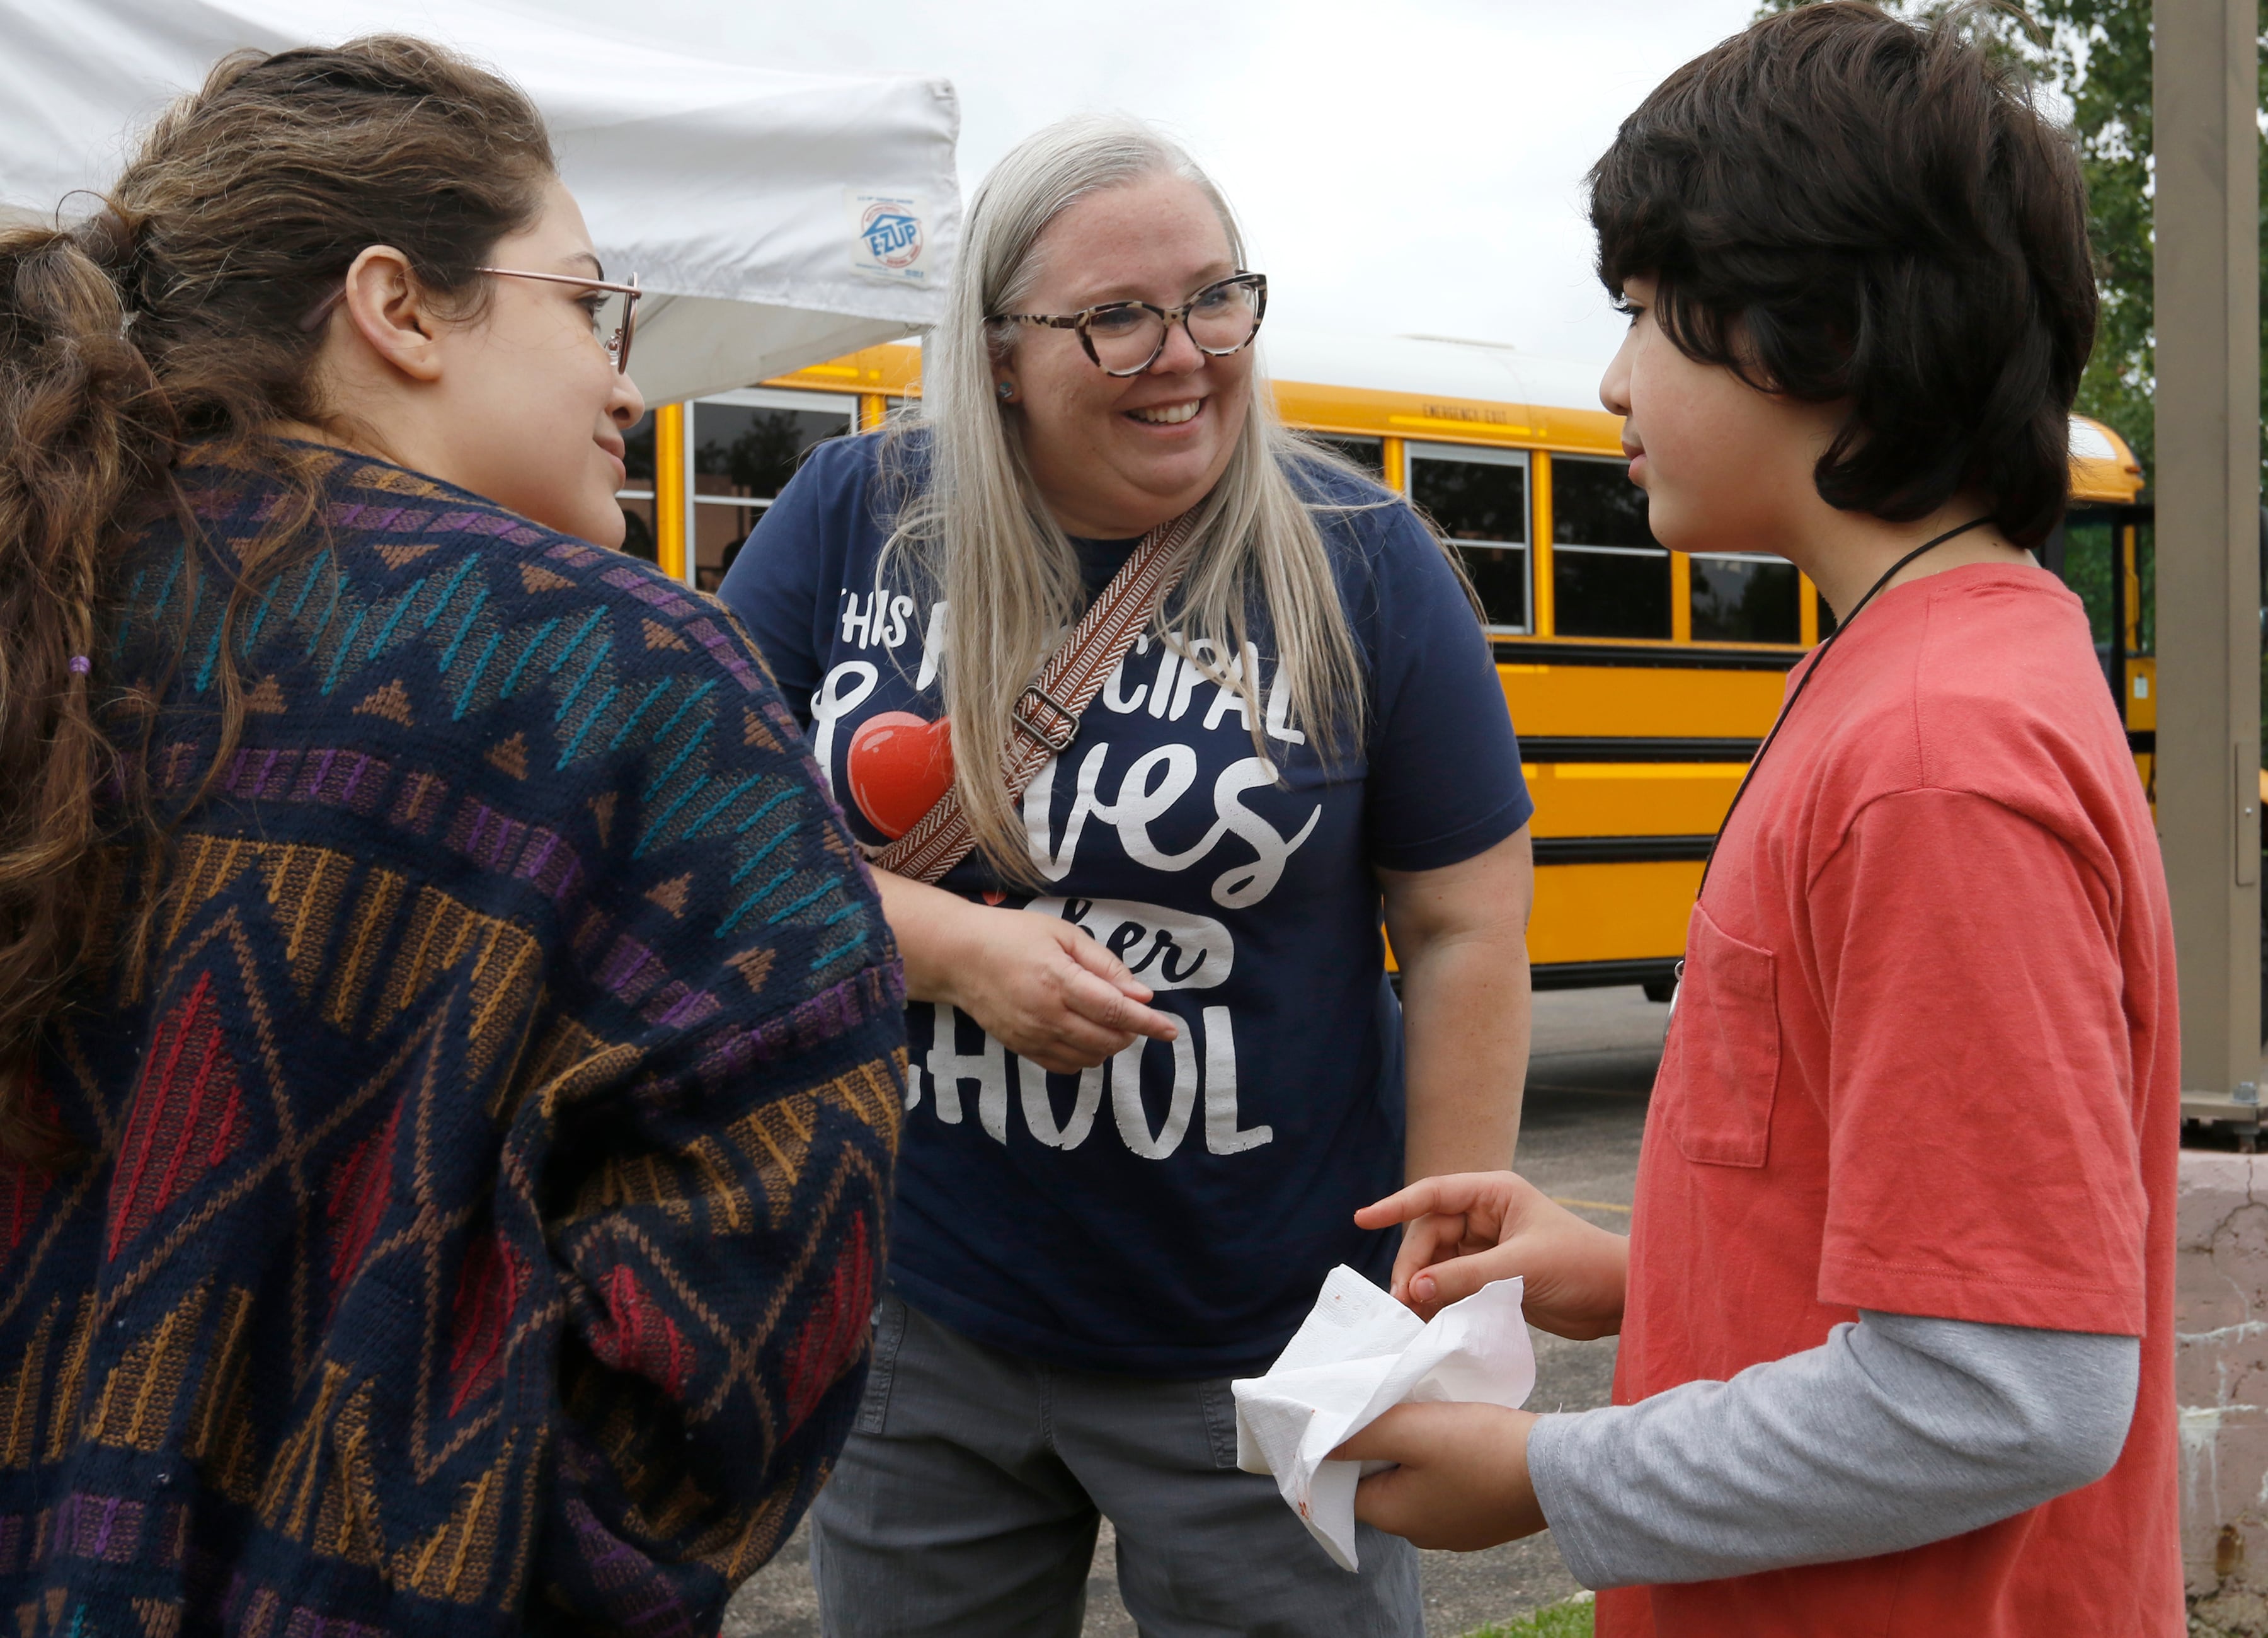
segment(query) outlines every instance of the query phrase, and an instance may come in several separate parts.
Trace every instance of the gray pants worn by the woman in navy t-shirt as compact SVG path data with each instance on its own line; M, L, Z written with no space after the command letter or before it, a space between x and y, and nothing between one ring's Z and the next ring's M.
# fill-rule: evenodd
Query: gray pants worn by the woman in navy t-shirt
M1095 1525L1143 1638L1422 1638L1417 1554L1334 1565L1236 1468L1227 1382L1057 1370L885 1298L873 1375L812 1509L828 1638L1077 1638Z

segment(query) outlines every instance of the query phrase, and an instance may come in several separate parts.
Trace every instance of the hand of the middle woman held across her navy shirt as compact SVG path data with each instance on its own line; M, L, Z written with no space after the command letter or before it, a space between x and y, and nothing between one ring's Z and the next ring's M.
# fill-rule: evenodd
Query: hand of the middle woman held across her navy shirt
M1170 1041L1173 1014L1086 932L1055 917L973 905L928 883L873 873L905 955L905 994L943 1000L1016 1057L1075 1075L1136 1037Z

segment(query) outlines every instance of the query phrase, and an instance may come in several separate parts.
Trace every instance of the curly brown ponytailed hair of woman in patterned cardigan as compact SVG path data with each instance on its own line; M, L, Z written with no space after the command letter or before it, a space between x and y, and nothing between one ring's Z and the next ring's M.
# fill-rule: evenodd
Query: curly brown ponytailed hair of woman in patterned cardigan
M272 431L347 424L347 406L320 402L322 333L304 318L370 245L474 315L476 268L535 222L553 175L517 86L370 36L222 59L91 220L0 234L0 1146L45 1143L27 1087L100 935L111 844L141 833L156 848L143 880L161 878L166 826L243 728L238 610L322 522L315 451ZM138 721L147 746L150 696L134 710L88 656L134 613L116 569L136 529L170 510L184 551L202 551L191 463L281 474L290 504L240 560L204 554L231 581L220 746L159 824L129 733Z

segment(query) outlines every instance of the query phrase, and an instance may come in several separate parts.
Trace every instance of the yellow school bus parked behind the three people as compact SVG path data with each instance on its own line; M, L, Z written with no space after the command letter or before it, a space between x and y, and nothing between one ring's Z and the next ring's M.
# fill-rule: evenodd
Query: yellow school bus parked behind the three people
M1701 860L1833 615L1767 554L1672 554L1628 483L1597 368L1454 338L1266 336L1284 420L1408 495L1481 597L1535 796L1538 989L1669 991ZM712 590L823 438L919 392L914 347L871 347L665 406L633 440L631 547ZM2071 522L2048 544L2089 603L2143 778L2155 760L2148 510L2109 429L2073 420Z

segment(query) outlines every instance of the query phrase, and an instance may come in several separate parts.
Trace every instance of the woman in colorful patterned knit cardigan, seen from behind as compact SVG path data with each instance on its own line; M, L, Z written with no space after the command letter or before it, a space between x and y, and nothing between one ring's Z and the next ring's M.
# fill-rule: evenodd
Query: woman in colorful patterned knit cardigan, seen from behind
M848 1429L900 978L737 624L606 549L624 295L406 39L0 236L25 1633L714 1631Z

